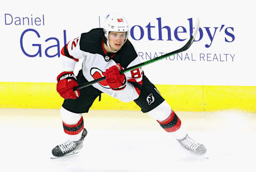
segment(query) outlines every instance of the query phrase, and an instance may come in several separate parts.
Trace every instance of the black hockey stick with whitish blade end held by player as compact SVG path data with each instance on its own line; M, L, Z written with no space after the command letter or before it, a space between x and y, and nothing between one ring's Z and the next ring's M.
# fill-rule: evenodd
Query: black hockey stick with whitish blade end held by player
M191 37L190 37L190 39L188 40L188 42L187 42L183 47L181 47L180 49L175 50L175 51L173 51L173 52L167 53L167 54L165 54L165 55L161 55L161 56L159 56L159 57L157 57L157 58L148 60L148 61L146 61L146 62L142 62L142 63L137 64L137 65L134 65L134 66L132 66L132 67L130 67L130 68L126 68L126 69L124 69L124 70L121 70L120 73L123 74L123 73L125 73L125 72L129 72L129 71L131 71L131 70L140 68L140 67L142 67L142 66L144 66L144 65L147 65L147 64L150 64L150 63L154 63L154 62L156 62L156 61L159 61L159 60L162 60L162 59L164 59L164 58L167 58L168 56L171 56L171 55L174 55L174 54L177 54L177 53L181 53L181 52L183 52L183 51L188 50L188 48L192 45L192 43L193 43L194 40L195 40L196 34L197 34L197 32L198 32L198 29L199 29L199 19L197 18L197 19L196 19L196 29L195 29L195 31L193 32L193 34L191 35ZM90 82L88 82L88 83L84 83L84 84L81 84L81 85L78 85L78 86L74 87L73 90L76 91L77 89L85 88L85 87L90 86L90 85L92 85L92 84L99 83L100 81L105 80L105 79L106 79L106 77L101 77L101 78L92 80L92 81L90 81Z

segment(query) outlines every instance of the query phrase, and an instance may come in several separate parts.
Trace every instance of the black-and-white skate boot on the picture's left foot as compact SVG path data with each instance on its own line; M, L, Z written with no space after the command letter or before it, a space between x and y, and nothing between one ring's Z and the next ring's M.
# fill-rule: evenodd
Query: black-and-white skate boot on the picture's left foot
M84 128L82 136L78 141L67 141L52 149L54 157L65 157L67 155L78 153L83 148L84 137L87 135L87 130Z

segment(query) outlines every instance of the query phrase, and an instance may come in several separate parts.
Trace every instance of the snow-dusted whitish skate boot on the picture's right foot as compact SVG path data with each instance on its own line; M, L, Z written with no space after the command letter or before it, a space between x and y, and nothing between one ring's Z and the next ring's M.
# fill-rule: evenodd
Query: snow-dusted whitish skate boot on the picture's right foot
M177 141L182 145L183 148L196 155L203 155L206 152L206 148L203 144L195 142L188 135L185 138Z

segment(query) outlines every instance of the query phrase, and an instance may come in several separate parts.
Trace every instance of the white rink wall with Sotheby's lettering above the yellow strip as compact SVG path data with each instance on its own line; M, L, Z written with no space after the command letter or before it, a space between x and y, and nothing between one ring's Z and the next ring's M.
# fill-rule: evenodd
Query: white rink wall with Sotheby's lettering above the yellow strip
M64 44L63 30L66 30L67 41L78 37L82 32L99 27L99 16L102 19L109 12L123 12L129 20L130 27L141 26L144 36L141 40L130 41L140 55L142 61L146 60L148 54L161 55L160 52L169 53L183 46L189 38L189 20L196 17L201 20L203 38L195 42L188 51L183 53L183 60L162 60L143 67L146 75L155 84L182 84L182 85L244 85L255 86L255 9L252 1L2 1L0 2L0 26L1 26L1 63L0 81L25 81L25 82L55 82L55 78L60 72L60 58L46 57L44 51L47 47L56 45L56 40L47 38L55 37L60 42L60 48ZM11 14L13 22L11 23ZM23 25L23 17L33 17L43 19L44 25L36 26L33 21ZM16 25L18 19L21 25ZM162 29L163 40L158 39L158 20L161 18L162 27L171 28L171 38L166 40L167 30ZM39 19L37 19L39 20ZM151 38L148 40L146 26L151 28ZM11 23L11 24L7 24ZM223 26L220 31L221 26ZM187 39L183 42L174 37L174 29L178 26L186 28L187 33L179 33L179 37ZM205 28L209 28L212 36L211 40ZM225 33L225 29L234 35L232 37ZM234 31L231 30L234 28ZM34 58L26 56L20 45L22 32L27 29L35 29L34 32L27 32L23 37L23 46L29 54L35 54L38 47L32 44L42 45L42 57ZM181 29L181 28L180 28ZM135 27L135 38L139 38L139 27ZM179 30L180 31L180 30ZM225 38L232 42L225 42ZM199 35L196 40L199 39ZM51 51L50 51L51 50ZM53 47L49 54L57 53L57 48ZM186 59L185 55L188 53ZM191 58L193 55L193 60ZM200 54L205 55L205 61ZM207 61L206 54L209 54ZM214 54L217 56L214 57ZM221 59L219 57L221 54ZM234 56L232 59L230 55ZM148 56L147 56L148 58ZM214 58L214 59L213 59ZM218 61L217 59L218 58ZM173 59L173 57L171 57ZM149 60L149 59L147 59ZM76 72L79 69L76 68Z

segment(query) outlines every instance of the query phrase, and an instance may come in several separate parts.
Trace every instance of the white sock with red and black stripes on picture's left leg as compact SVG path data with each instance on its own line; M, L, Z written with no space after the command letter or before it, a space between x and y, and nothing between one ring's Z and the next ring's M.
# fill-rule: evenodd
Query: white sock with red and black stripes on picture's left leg
M82 113L73 113L61 107L60 116L67 139L69 141L78 141L82 136L84 128Z

